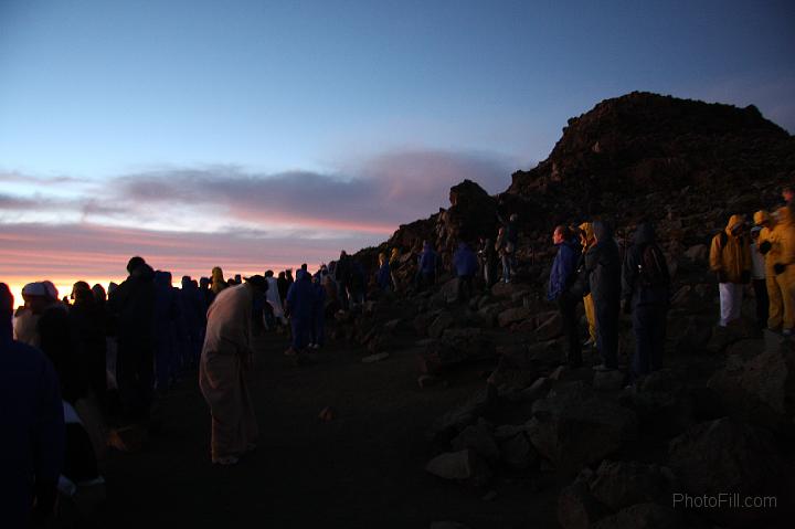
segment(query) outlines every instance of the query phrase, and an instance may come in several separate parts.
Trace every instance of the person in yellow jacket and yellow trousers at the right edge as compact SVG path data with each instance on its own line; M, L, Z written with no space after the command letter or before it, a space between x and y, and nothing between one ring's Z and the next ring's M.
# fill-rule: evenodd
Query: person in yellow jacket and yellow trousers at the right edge
M767 328L782 327L792 335L795 327L795 218L789 207L780 208L775 219L766 211L754 214L762 226L757 246L765 256L765 279L770 298Z

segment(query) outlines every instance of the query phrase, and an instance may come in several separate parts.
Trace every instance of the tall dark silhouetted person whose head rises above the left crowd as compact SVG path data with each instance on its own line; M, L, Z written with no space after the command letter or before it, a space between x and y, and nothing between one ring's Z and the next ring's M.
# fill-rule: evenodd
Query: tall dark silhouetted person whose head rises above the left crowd
M108 298L108 310L117 320L117 382L126 419L147 422L155 361L155 271L136 256L127 272L127 279Z

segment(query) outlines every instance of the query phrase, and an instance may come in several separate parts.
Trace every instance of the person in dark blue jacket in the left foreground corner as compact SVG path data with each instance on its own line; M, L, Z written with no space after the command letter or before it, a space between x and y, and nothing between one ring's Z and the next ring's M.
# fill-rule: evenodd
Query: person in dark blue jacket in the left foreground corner
M0 520L44 527L64 467L65 427L57 374L39 349L13 340L13 296L0 283Z

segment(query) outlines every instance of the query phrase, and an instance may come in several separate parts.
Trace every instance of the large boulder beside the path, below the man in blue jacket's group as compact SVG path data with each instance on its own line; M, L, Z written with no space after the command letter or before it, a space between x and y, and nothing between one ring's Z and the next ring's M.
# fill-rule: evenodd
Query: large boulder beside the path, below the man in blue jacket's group
M637 417L614 400L593 394L582 382L550 391L533 403L530 441L562 473L576 474L635 437Z

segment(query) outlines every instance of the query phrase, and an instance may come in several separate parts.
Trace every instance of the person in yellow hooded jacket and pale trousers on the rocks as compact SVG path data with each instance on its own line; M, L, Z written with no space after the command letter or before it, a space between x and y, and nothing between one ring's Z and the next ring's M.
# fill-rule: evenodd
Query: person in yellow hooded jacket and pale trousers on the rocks
M740 319L743 285L751 281L751 250L744 226L742 215L731 215L725 230L712 237L710 271L718 276L721 327Z

